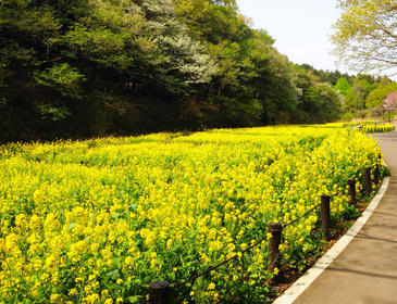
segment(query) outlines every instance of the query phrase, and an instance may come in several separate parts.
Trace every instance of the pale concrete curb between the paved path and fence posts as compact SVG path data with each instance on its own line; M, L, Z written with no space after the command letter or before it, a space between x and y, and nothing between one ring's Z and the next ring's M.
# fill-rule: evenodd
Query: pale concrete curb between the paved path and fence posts
M340 252L350 243L350 241L360 231L362 226L370 218L383 194L386 192L389 177L383 179L382 186L371 203L367 206L361 216L346 231L346 233L294 284L291 284L282 295L280 295L273 304L291 304L294 301L330 266L330 264L339 255Z

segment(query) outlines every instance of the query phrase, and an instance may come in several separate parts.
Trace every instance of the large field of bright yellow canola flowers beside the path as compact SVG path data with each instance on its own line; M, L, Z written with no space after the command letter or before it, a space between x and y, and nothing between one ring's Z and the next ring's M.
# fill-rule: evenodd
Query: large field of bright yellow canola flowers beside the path
M0 147L0 300L141 303L346 190L377 144L339 127L263 127ZM358 182L358 189L361 183ZM347 191L332 216L349 212ZM319 250L313 212L282 263ZM178 290L183 303L266 303L266 242Z

